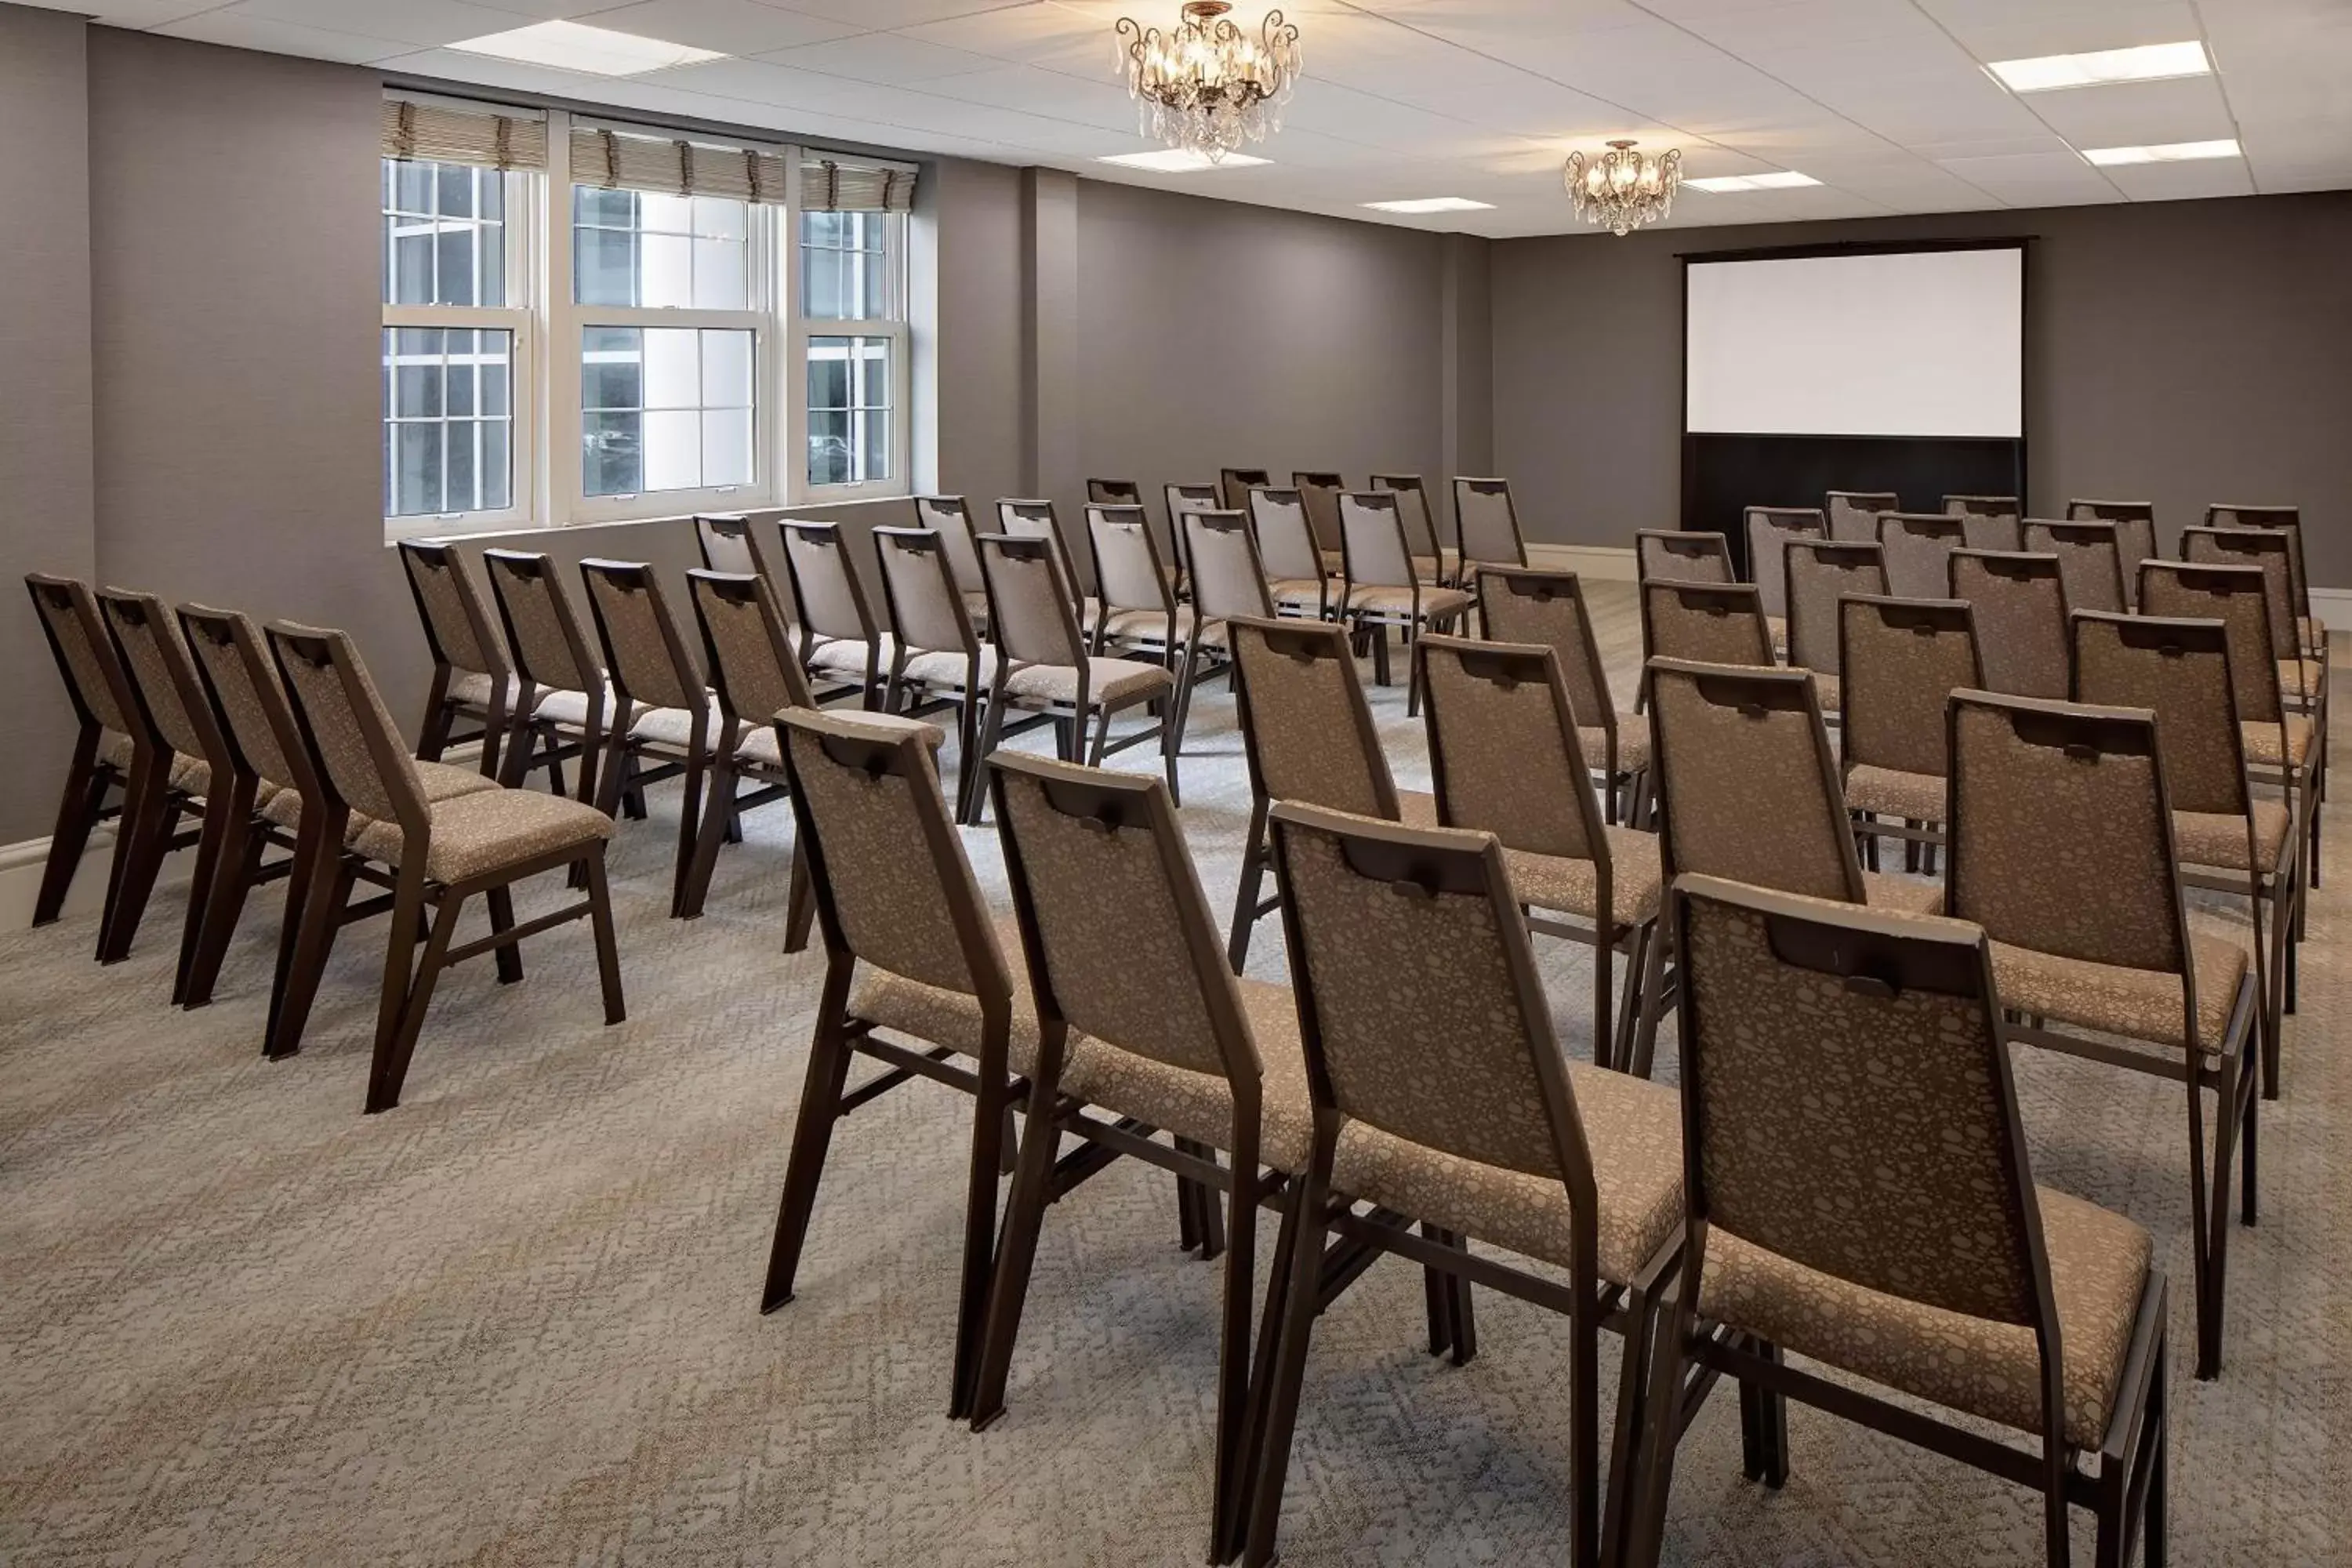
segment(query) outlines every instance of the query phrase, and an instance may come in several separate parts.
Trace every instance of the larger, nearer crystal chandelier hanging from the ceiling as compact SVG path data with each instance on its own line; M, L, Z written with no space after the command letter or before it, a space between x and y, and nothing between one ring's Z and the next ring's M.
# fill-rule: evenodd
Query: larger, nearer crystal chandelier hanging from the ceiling
M1225 21L1230 9L1225 0L1190 0L1171 31L1120 16L1112 45L1138 129L1209 162L1279 132L1298 87L1298 28L1265 12L1251 38Z

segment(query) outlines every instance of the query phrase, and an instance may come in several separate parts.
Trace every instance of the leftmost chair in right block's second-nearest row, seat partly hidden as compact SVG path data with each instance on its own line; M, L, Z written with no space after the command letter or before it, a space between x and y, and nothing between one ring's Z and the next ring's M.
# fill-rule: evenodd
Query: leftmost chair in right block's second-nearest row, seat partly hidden
M1345 628L1329 621L1256 621L1235 616L1232 698L1249 762L1249 830L1242 837L1242 882L1232 898L1225 961L1242 973L1258 922L1282 907L1279 893L1261 903L1272 865L1265 823L1275 802L1305 802L1352 816L1437 825L1437 797L1399 790L1371 724L1364 682L1355 672Z

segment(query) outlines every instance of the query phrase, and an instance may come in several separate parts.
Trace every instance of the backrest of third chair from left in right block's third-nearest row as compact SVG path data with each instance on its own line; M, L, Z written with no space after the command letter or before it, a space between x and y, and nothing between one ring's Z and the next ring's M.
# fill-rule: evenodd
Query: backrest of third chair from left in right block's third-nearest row
M1985 684L1969 607L1851 595L1837 604L1837 635L1844 764L1943 778L1945 703Z

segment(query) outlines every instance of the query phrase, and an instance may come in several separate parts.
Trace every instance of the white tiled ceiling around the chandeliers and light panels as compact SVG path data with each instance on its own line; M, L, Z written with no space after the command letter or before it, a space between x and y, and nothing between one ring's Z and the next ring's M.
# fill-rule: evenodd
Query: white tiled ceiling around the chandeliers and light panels
M1049 165L1094 179L1484 235L1573 233L1571 148L1679 146L1677 226L2352 188L2347 0L1294 0L1305 78L1272 162L1141 174L1120 14L1176 0L35 0L245 49ZM1235 14L1256 24L1261 0ZM731 59L597 78L442 45L572 16ZM2011 96L1983 61L2201 38L2218 75ZM2234 136L2244 160L2098 169L2077 148ZM1359 202L1465 195L1494 212Z

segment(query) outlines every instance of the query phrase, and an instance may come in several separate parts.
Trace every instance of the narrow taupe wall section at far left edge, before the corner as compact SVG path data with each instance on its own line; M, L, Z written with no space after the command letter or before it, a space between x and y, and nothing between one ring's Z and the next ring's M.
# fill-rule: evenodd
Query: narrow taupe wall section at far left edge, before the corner
M0 5L0 559L92 571L82 19ZM0 614L0 844L56 820L73 708L16 583Z

